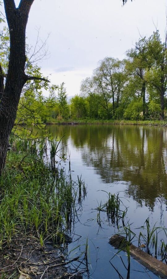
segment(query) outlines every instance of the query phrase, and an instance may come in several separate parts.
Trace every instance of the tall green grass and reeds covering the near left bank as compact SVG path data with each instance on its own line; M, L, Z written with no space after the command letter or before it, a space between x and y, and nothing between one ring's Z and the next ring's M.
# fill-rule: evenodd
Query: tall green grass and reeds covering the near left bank
M0 248L11 246L22 233L38 241L42 237L41 243L49 237L63 241L76 215L78 200L81 203L82 195L86 195L83 181L78 185L58 168L59 142L12 137L11 144L0 179ZM53 165L45 162L47 152L54 152Z

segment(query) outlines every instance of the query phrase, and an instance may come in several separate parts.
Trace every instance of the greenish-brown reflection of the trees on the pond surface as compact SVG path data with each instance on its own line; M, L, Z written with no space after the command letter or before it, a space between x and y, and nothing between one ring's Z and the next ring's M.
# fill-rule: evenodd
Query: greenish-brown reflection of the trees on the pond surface
M156 199L167 200L167 129L126 125L50 125L53 136L63 135L81 150L82 163L93 166L103 183L124 181L126 194L153 210Z

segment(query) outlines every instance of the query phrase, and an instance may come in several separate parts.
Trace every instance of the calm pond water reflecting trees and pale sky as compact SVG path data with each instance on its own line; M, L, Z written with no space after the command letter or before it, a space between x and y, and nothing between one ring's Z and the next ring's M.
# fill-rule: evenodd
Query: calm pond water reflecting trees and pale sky
M119 256L109 238L118 232L101 215L102 228L97 224L98 203L107 201L107 193L120 192L124 205L128 207L127 219L137 235L140 226L149 217L153 226L167 227L167 129L126 125L49 125L53 137L61 137L62 153L70 153L73 177L82 174L87 184L87 198L75 231L81 238L69 245L69 251L81 245L84 250L88 239L90 278L123 278L127 276ZM65 165L68 168L68 163ZM164 237L165 242L166 237ZM77 236L74 236L74 240ZM83 246L82 246L83 245ZM71 254L75 256L77 249ZM127 256L122 252L127 266ZM86 275L85 275L86 277ZM137 261L131 259L130 278L158 278Z

